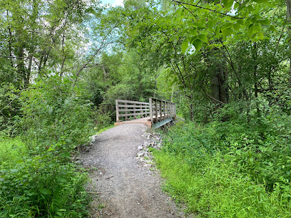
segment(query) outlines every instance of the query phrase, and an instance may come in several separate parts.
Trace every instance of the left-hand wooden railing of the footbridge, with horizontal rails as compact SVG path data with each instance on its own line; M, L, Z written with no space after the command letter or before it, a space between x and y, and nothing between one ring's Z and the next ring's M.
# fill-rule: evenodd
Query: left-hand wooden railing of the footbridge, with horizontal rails
M122 118L146 118L150 115L150 103L133 100L116 100L116 122L121 122Z

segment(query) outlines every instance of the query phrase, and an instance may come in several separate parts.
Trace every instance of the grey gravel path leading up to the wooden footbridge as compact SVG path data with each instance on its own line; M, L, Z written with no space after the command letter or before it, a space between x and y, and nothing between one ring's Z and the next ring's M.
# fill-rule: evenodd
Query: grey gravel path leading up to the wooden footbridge
M82 164L91 169L91 217L183 217L160 189L158 171L136 160L138 146L147 140L145 131L143 124L116 126L98 135L81 153Z

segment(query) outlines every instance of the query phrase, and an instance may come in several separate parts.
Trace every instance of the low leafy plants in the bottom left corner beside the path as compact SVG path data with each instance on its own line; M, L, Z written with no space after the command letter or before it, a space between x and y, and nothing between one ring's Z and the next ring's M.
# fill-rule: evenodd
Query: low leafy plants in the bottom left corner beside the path
M28 155L24 143L17 139L6 139L0 147L11 155L0 162L0 217L87 214L86 175L81 169L63 164L51 151Z

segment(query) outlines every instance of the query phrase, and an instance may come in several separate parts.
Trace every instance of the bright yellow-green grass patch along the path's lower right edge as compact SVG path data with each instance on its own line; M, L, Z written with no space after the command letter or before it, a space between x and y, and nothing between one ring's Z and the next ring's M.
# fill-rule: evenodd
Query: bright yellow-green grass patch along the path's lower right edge
M165 150L154 155L165 191L198 217L291 217L290 194L280 195L279 187L266 192L238 172L230 155L209 155L202 169Z

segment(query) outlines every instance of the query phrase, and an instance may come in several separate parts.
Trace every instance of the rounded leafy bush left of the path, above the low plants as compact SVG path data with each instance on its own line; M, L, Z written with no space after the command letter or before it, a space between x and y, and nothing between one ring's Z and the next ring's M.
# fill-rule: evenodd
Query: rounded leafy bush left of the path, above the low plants
M21 93L21 128L35 147L44 150L56 145L70 151L91 135L91 103L82 95L83 89L69 78L51 76L37 81Z

